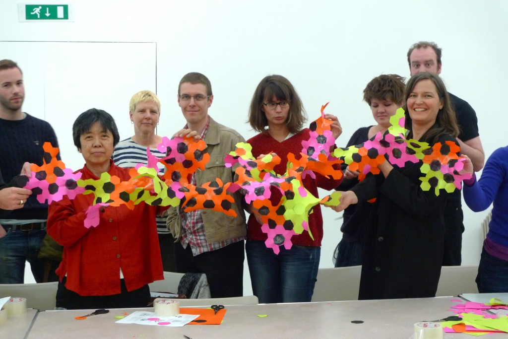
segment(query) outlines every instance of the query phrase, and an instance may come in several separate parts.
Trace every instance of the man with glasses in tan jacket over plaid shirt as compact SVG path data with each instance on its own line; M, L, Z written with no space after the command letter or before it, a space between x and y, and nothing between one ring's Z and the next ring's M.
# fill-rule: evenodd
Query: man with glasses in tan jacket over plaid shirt
M196 131L206 142L210 161L204 171L192 175L195 186L217 177L234 181L235 168L227 168L224 157L235 150L243 137L208 115L213 94L210 80L201 73L188 73L178 86L178 106L187 121L184 129ZM168 211L168 229L179 240L175 246L176 269L180 273L205 273L212 298L243 295L244 239L247 233L240 192L233 194L232 208L237 217L210 209L183 212L180 207Z

